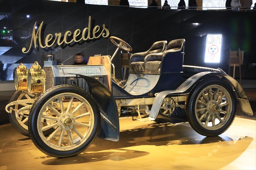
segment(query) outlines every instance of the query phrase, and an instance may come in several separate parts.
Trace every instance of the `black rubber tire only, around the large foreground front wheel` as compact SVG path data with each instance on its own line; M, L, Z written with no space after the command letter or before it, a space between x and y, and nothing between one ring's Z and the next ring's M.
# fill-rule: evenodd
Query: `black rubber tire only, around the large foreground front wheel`
M81 144L79 147L76 147L72 150L55 150L52 147L49 147L44 141L41 139L38 127L37 127L37 121L38 116L40 114L41 108L50 98L52 98L55 95L61 94L61 93L73 93L78 94L82 96L84 99L86 99L93 110L93 115L95 118L94 124L93 124L93 130L90 133L90 136L88 136L88 139L84 141L83 144ZM95 99L93 96L91 96L87 91L84 89L73 86L73 85L58 85L53 88L49 88L47 91L42 93L38 99L36 99L35 103L33 104L30 113L29 113L29 132L31 134L32 142L35 144L36 147L38 147L39 150L46 153L49 156L56 157L56 158L64 158L64 157L70 157L75 156L81 152L83 152L87 147L92 144L94 139L96 138L96 135L98 134L99 127L100 127L100 111L98 108L98 105L96 104Z

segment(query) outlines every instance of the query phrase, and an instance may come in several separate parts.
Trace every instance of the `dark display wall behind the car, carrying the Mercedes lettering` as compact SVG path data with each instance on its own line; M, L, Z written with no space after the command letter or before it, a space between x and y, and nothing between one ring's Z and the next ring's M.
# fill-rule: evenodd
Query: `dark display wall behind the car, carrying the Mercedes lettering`
M256 12L163 10L47 0L0 0L0 79L12 80L13 70L20 62L30 67L38 61L43 66L48 54L53 54L54 59L64 65L73 64L73 56L78 52L84 53L87 58L94 54L112 55L116 47L110 42L110 36L61 45L55 42L50 48L41 48L37 42L37 48L32 48L26 54L22 52L22 48L30 46L35 22L39 27L44 21L41 30L44 44L48 34L61 33L63 36L66 31L82 31L88 27L89 16L91 31L97 25L102 29L105 24L110 36L119 37L132 46L132 53L145 51L158 40L169 42L185 38L186 65L222 68L227 72L227 51L229 48L240 48L244 51L242 77L256 78ZM207 34L223 36L220 63L204 63ZM119 59L116 58L114 63L116 76L120 77Z

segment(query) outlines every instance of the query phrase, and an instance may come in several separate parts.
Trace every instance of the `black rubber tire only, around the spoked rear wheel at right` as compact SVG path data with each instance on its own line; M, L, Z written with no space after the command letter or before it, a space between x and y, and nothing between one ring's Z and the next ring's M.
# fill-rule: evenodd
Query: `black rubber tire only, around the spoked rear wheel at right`
M196 113L195 113L195 103L197 100L198 95L200 95L201 91L206 88L209 85L219 85L222 88L226 89L227 92L231 96L231 102L232 102L232 111L230 113L230 118L227 120L226 124L223 125L223 127L220 127L216 130L209 130L204 128L201 123L198 122ZM221 133L224 133L230 125L233 123L233 120L236 115L236 94L234 93L233 89L230 85L223 79L206 79L203 80L197 87L195 87L192 92L189 94L187 106L186 106L186 115L189 121L189 124L191 127L199 134L203 136L218 136ZM223 117L223 116L222 116Z

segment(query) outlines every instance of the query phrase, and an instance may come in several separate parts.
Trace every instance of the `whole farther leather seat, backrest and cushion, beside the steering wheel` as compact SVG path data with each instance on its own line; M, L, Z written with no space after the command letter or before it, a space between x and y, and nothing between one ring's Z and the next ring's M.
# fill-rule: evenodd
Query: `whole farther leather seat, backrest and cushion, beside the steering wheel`
M133 74L144 74L145 64L144 59L148 54L157 54L165 51L167 41L154 42L151 47L144 52L135 53L130 59L129 73Z

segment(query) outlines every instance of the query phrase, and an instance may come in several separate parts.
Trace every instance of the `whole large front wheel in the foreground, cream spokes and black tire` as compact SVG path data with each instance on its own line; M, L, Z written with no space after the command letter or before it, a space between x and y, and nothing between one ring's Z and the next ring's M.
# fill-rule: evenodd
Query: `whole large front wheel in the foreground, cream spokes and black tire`
M41 94L29 114L32 141L44 153L58 158L75 156L89 147L99 125L95 99L72 85L59 85ZM51 128L54 131L45 135Z

